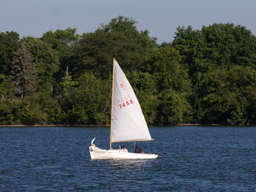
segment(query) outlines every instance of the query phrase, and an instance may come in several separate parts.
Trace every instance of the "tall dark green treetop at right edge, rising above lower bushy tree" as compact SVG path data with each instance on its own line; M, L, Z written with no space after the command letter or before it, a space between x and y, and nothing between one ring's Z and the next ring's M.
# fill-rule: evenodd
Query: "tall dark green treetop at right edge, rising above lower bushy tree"
M234 24L212 24L202 27L205 39L205 59L218 66L251 66L256 63L256 38L244 26Z

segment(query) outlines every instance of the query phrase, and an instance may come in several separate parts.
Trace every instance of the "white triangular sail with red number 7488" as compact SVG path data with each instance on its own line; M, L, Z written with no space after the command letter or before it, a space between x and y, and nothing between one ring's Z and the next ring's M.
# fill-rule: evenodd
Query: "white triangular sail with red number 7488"
M117 61L113 81L111 142L152 140L138 99Z

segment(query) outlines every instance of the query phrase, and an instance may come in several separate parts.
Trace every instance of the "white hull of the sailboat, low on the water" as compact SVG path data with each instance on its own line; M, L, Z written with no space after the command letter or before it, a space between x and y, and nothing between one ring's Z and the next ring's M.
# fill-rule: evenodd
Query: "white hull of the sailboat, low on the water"
M90 147L91 159L156 159L157 154L134 154L122 150L105 150L92 144Z

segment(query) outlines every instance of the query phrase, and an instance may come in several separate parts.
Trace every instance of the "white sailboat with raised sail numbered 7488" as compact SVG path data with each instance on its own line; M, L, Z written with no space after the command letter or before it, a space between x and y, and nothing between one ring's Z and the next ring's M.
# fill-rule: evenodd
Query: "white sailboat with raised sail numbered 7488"
M111 127L109 150L96 147L91 142L91 159L156 159L157 154L136 154L113 149L112 143L152 141L140 103L124 72L113 59L113 86L111 102Z

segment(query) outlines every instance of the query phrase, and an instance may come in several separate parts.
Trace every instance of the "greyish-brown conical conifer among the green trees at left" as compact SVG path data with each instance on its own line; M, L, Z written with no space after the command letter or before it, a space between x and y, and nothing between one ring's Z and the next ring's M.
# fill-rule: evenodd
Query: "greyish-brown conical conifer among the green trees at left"
M31 54L26 46L20 48L17 60L12 67L12 81L15 84L15 92L21 98L24 95L31 95L36 88L36 68Z

